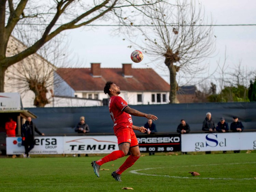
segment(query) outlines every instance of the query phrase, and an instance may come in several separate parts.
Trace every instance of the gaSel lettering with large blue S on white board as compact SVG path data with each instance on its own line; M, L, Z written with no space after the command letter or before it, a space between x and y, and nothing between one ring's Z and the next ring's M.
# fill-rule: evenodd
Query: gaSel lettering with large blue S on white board
M205 136L206 141L205 142L196 142L195 143L195 151L200 151L201 148L204 147L226 147L226 138L219 141L218 140L218 134L208 134Z

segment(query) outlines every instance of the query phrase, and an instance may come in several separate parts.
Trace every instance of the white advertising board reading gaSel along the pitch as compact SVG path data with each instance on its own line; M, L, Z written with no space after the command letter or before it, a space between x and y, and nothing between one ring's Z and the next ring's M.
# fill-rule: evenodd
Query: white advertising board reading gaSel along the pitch
M182 134L181 151L256 150L256 132Z

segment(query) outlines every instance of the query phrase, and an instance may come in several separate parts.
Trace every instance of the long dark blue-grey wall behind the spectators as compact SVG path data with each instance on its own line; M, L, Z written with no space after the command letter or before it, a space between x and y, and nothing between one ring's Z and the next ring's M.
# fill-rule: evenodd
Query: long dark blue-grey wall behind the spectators
M256 129L256 102L250 103L191 103L163 105L133 105L131 108L141 112L154 114L158 132L176 132L181 119L190 125L191 131L202 130L202 122L207 112L211 112L217 125L219 118L224 117L230 125L233 116L238 116L245 129ZM38 118L33 120L39 130L46 134L73 134L80 116L91 133L113 133L113 121L108 106L101 107L59 107L59 108L27 108ZM132 117L133 124L143 126L147 119Z

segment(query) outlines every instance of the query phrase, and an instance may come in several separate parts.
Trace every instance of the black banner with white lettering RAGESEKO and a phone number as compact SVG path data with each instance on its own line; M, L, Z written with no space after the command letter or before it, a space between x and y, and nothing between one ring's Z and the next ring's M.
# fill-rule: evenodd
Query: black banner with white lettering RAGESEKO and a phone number
M140 152L181 151L180 134L137 135Z

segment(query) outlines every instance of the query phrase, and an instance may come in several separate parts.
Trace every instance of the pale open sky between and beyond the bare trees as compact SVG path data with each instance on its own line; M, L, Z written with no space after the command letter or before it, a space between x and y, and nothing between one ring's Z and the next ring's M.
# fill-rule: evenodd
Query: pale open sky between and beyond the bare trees
M256 24L255 0L201 0L205 16L212 16L214 24ZM87 28L88 29L88 28ZM133 63L130 54L134 48L128 48L130 43L122 40L124 37L113 36L113 27L97 27L86 30L86 27L69 30L66 35L72 56L71 63L80 67L90 67L90 63L101 63L102 68L122 68L122 63L132 63L133 68L153 68L169 83L168 71L156 68L149 56L144 53L141 63ZM217 61L224 61L226 49L226 65L233 67L241 62L248 70L256 70L256 26L214 27L216 36L216 51L212 58L205 62L210 65L210 71L217 67ZM163 63L163 66L165 64Z

